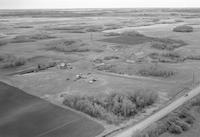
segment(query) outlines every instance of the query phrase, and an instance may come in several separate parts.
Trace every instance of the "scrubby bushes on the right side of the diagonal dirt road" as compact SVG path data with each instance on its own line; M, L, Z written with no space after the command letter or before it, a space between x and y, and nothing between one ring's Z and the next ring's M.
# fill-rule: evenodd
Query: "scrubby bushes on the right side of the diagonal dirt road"
M191 107L196 105L196 101L199 103L199 97L159 120L156 126L148 127L132 137L145 137L145 135L148 137L158 137L165 132L181 134L189 130L195 121L194 116L191 114ZM198 103L197 105L199 105Z

